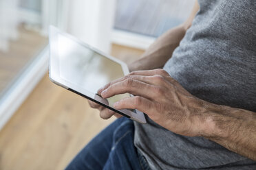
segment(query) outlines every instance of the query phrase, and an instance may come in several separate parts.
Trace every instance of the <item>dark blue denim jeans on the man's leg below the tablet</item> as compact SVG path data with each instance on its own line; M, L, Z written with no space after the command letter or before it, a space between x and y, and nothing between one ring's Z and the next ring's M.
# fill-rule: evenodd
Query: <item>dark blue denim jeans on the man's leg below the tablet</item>
M93 138L66 169L147 170L149 167L134 147L133 121L122 117Z

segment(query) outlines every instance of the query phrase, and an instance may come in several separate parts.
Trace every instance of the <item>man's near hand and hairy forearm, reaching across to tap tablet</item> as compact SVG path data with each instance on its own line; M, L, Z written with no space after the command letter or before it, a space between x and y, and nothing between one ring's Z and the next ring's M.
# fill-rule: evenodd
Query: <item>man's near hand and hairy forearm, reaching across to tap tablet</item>
M135 97L116 102L114 108L138 109L171 132L203 136L256 160L255 112L198 99L162 69L135 71L98 90L103 98L122 93Z

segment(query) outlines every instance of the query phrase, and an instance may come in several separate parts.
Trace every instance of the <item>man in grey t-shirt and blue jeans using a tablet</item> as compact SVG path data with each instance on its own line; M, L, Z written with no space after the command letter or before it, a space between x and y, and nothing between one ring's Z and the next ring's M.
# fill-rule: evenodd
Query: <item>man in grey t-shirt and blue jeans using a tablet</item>
M148 123L117 119L67 169L256 169L255 0L198 0L129 69L98 93Z

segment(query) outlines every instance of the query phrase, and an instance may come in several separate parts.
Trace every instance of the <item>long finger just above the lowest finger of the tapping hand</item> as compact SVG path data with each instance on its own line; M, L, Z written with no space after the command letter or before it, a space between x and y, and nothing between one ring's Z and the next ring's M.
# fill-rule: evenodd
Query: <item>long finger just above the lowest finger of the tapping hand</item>
M153 99L156 95L155 92L156 87L146 84L144 82L140 82L134 79L127 79L122 82L117 82L116 84L112 84L107 89L103 90L101 96L103 98L112 97L114 95L130 93L132 95L139 95L142 97L147 97Z

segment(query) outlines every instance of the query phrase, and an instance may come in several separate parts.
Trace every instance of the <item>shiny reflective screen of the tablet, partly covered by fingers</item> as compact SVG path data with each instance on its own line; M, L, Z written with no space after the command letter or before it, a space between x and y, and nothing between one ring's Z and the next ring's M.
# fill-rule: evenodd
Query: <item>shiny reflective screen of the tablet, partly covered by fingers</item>
M57 38L59 73L65 81L96 94L105 84L124 76L119 63L62 34L58 34ZM125 97L129 94L110 97L107 99L109 106Z

